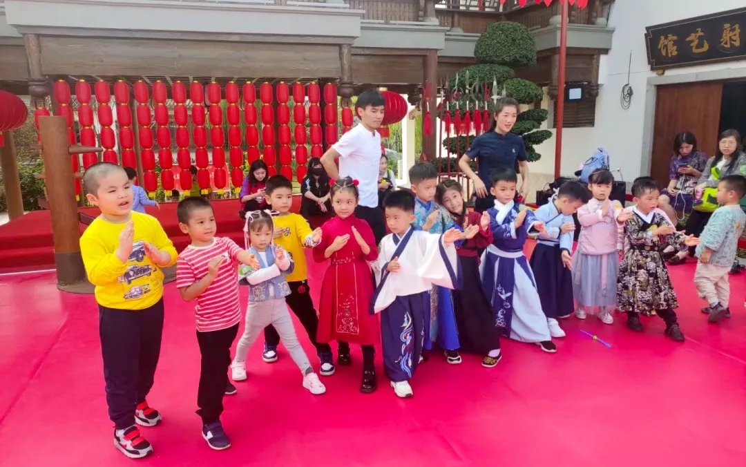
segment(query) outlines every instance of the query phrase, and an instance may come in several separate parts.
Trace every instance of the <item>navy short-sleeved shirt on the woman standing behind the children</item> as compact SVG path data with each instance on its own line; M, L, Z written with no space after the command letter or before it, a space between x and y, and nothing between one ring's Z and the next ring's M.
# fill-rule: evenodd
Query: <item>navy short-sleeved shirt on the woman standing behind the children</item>
M526 160L526 146L523 144L523 138L515 133L499 134L497 131L488 131L474 138L471 147L466 151L466 157L477 159L477 175L489 189L492 186L489 178L495 169L515 169L516 160Z

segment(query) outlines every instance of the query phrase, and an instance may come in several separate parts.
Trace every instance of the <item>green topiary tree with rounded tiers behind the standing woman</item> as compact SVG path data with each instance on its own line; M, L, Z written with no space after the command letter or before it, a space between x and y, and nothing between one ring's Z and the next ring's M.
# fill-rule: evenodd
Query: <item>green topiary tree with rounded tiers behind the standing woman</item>
M476 65L461 69L448 81L448 109L451 117L459 109L464 116L466 109L494 111L493 97L511 97L519 104L534 104L542 101L544 92L537 84L515 78L514 68L536 66L536 44L530 31L517 22L495 22L482 33L474 45ZM444 104L444 107L445 108ZM542 156L533 148L552 137L551 131L539 130L548 112L531 108L518 113L518 121L511 130L523 137L529 161ZM460 156L466 152L466 138L448 137L443 146L451 154Z

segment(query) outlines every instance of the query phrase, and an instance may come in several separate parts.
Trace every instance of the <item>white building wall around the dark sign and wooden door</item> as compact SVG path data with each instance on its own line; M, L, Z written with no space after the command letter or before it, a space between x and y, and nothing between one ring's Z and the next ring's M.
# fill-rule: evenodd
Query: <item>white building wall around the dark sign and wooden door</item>
M621 167L624 180L632 181L640 175L648 175L649 167L641 168L645 88L648 78L655 76L655 72L651 72L648 65L645 27L733 10L744 4L743 0L683 0L675 2L675 6L668 1L616 1L609 16L609 26L615 28L612 49L608 56L601 57L599 81L604 85L596 101L595 127L568 128L563 131L562 175L569 175L577 170L580 163L598 147L609 152L612 168ZM745 39L746 37L742 38ZM620 105L620 97L621 88L627 84L628 68L634 95L630 108L624 110ZM665 75L727 68L746 68L746 60L667 69ZM534 172L554 172L554 144L553 138L537 148L542 154L542 160L536 163Z

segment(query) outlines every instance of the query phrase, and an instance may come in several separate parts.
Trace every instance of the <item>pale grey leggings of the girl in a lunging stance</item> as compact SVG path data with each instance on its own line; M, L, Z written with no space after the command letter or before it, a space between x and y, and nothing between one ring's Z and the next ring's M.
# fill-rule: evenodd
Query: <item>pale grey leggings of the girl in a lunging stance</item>
M295 335L295 327L292 325L290 313L284 298L271 298L265 301L249 301L246 307L246 325L243 335L236 348L236 362L244 362L248 348L257 340L264 328L272 325L280 335L280 340L285 346L290 358L306 374L311 369L306 352L298 342Z

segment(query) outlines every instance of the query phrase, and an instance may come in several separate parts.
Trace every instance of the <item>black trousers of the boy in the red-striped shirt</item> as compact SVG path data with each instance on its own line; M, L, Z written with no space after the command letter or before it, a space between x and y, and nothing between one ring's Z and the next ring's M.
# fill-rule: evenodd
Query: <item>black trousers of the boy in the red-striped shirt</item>
M197 415L202 424L220 420L223 413L223 395L228 384L228 367L231 366L231 345L238 333L238 323L221 330L204 333L197 331L199 353L202 356L197 389Z

